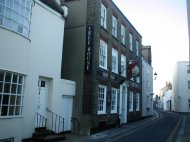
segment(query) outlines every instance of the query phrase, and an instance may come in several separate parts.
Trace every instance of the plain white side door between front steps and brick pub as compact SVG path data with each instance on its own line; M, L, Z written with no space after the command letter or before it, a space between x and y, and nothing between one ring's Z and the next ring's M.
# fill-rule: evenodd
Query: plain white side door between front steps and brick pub
M62 96L62 116L64 117L64 130L71 130L71 117L73 110L73 97Z

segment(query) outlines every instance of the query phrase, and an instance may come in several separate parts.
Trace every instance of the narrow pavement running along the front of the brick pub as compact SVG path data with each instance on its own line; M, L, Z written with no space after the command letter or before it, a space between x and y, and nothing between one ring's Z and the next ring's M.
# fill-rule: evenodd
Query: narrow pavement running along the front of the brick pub
M126 132L132 132L133 130L150 124L159 119L159 114L154 112L152 117L144 118L142 120L122 125L119 128L109 129L100 133L96 133L90 136L78 136L74 134L66 134L66 139L62 142L97 142L97 140L104 139L106 137L113 138L118 135L122 135Z

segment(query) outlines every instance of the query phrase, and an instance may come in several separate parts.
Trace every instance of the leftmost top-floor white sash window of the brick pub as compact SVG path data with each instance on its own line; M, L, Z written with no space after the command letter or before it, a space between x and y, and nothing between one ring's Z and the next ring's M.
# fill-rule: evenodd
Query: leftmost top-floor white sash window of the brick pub
M100 25L107 29L107 8L106 6L101 3L101 23Z

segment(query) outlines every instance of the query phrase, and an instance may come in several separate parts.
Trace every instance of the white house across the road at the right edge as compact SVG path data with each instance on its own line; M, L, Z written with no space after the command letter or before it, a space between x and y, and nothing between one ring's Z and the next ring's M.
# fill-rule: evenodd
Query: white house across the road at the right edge
M179 61L173 70L172 110L190 112L190 68L189 61Z

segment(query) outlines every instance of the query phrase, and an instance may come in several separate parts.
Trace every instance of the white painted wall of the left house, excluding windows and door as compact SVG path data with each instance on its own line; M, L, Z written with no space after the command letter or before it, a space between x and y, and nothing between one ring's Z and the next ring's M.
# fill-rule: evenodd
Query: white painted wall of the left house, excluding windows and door
M67 118L69 130L72 108L63 108L64 98L72 107L75 82L60 79L65 20L39 0L32 7L29 39L0 28L0 69L26 75L23 116L0 118L0 139L14 137L15 142L32 137L37 110L38 79L49 82L48 109ZM2 129L3 128L3 129Z

